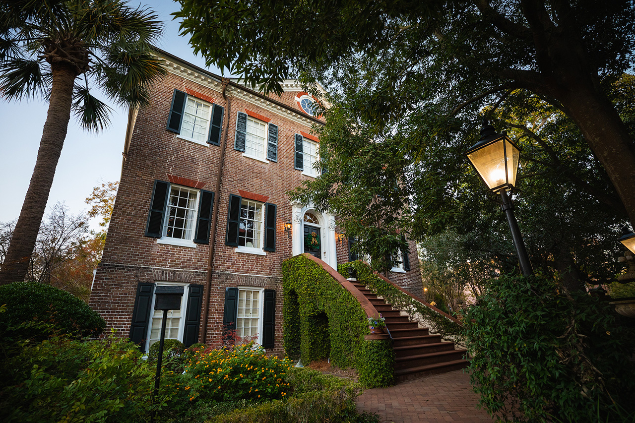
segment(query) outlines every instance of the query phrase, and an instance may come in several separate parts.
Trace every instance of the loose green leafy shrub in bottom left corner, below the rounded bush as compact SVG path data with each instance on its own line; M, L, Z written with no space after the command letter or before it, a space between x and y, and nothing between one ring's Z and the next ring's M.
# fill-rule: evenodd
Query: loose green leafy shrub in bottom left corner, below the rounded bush
M134 422L152 410L154 368L135 344L52 337L26 344L10 361L0 382L4 422ZM166 400L162 390L154 407Z

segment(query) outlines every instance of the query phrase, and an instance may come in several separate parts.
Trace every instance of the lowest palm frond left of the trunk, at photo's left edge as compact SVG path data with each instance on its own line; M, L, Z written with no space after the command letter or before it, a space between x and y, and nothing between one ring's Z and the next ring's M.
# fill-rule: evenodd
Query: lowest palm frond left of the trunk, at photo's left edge
M38 60L13 58L4 60L3 74L0 76L0 95L8 100L27 99L43 95L46 76L42 73Z

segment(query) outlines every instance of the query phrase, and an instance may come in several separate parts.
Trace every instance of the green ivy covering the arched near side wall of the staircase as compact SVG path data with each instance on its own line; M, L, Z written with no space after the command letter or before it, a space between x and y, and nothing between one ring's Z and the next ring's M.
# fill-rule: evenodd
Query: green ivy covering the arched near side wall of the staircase
M298 255L283 266L284 350L304 364L330 358L340 368L355 368L364 387L390 386L394 352L389 341L370 334L358 300L316 262Z

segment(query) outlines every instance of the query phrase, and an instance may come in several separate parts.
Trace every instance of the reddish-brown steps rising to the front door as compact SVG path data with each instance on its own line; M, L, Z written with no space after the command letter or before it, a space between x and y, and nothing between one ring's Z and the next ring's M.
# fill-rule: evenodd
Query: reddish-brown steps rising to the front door
M441 335L430 335L427 328L419 328L417 322L409 321L408 316L401 316L399 310L394 310L391 304L379 299L366 286L349 280L385 318L395 352L395 382L451 372L467 366L467 360L463 359L467 351L455 349L454 342L442 342Z

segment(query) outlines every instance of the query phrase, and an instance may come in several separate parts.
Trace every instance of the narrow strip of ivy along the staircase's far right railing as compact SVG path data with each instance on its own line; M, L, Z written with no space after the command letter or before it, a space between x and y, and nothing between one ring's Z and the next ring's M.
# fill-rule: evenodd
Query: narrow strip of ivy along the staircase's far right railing
M383 297L387 302L393 305L396 309L407 311L410 316L414 316L419 313L425 325L428 326L430 332L438 333L443 338L451 338L458 344L464 344L462 339L462 326L458 325L453 320L448 319L443 314L439 314L427 305L424 305L417 300L410 297L398 288L395 288L390 283L379 278L377 274L371 271L367 264L358 260L356 262L340 264L338 271L341 274L348 274L349 267L354 267L357 271L357 279L360 283L368 286L368 289L374 294ZM422 322L423 323L423 322Z

